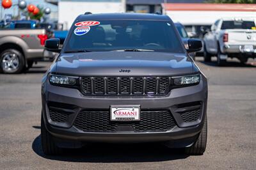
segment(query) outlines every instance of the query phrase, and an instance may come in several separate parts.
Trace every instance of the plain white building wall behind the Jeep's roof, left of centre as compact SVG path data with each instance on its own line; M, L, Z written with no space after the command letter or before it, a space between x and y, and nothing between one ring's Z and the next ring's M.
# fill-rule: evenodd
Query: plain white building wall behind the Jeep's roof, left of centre
M123 1L118 0L98 0L98 1L68 1L60 0L58 3L59 8L59 20L60 24L63 24L64 29L69 29L71 24L74 22L78 15L84 12L92 13L115 13L115 12L125 12L125 5Z

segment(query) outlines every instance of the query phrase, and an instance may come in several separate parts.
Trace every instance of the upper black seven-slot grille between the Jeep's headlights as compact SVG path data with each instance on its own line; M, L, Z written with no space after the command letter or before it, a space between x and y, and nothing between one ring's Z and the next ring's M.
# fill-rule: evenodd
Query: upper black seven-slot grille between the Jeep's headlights
M81 77L84 95L166 95L170 77Z

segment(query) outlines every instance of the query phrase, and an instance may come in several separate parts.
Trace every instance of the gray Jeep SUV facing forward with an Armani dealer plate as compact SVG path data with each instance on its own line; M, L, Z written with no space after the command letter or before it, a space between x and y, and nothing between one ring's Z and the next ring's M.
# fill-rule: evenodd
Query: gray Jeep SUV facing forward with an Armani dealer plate
M166 15L79 15L42 79L42 150L88 143L162 143L202 155L207 79Z

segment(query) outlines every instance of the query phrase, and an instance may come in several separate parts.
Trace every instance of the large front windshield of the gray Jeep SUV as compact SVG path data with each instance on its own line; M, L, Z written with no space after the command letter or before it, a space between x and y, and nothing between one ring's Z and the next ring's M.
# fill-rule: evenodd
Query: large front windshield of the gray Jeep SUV
M65 52L127 49L184 52L168 21L97 20L95 23L94 26L74 26L70 30Z

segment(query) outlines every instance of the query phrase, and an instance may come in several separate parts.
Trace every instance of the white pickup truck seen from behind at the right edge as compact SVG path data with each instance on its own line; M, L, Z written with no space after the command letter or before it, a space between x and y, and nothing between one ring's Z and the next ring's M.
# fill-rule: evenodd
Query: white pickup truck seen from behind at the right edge
M256 58L255 19L219 19L204 36L204 59L217 56L218 65L225 65L227 58L237 58L246 63Z

